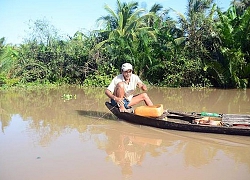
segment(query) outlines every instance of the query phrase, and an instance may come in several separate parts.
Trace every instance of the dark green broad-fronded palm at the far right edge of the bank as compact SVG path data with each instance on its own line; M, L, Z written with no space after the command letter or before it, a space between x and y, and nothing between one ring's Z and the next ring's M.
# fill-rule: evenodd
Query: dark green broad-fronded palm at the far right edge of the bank
M250 80L250 8L243 15L235 6L219 15L218 38L220 40L217 61L208 63L208 71L222 87L246 88Z

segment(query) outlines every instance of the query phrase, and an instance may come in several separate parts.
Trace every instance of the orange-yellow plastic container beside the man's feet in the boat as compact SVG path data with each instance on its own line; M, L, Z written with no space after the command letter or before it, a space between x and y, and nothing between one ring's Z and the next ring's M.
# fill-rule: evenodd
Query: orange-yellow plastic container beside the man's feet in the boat
M139 106L135 108L136 115L146 117L160 117L163 114L163 105L157 104L154 106Z

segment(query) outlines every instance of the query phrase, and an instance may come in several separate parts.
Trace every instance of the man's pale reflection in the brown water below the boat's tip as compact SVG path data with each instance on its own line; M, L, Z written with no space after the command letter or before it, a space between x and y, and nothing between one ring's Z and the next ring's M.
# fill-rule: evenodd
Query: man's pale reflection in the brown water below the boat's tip
M145 135L117 131L117 128L109 127L106 130L108 144L105 151L113 163L119 165L122 174L131 175L132 166L142 165L146 152L156 155L156 147L160 146L162 139L146 137Z

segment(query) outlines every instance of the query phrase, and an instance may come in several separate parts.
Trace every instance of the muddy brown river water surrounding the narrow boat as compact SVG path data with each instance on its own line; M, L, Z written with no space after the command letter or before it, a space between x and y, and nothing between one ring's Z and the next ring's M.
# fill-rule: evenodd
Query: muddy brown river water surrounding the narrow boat
M164 109L250 114L250 89L148 94ZM0 91L0 179L250 179L250 137L133 125L107 100L104 88Z

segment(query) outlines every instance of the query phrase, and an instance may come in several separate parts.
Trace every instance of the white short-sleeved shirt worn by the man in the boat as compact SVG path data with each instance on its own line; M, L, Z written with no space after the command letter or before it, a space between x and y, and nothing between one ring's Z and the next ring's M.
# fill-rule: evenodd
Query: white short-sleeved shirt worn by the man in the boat
M141 79L139 78L139 76L135 75L135 74L131 74L130 77L130 82L129 84L127 84L125 82L125 79L123 77L122 74L119 74L118 76L116 76L110 83L110 85L108 86L108 90L111 91L112 93L114 93L115 91L115 87L119 82L124 82L124 91L125 91L125 98L128 99L129 101L131 101L131 99L133 98L133 92L136 90L136 86L138 83L142 83Z

